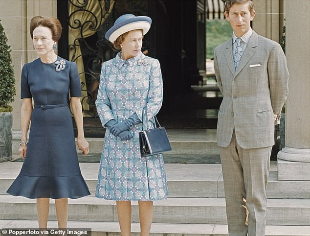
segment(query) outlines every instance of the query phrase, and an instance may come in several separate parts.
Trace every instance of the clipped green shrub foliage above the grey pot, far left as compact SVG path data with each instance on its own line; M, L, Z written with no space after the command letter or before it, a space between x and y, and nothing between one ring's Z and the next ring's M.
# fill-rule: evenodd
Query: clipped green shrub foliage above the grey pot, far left
M1 20L0 20L1 21ZM7 45L4 28L0 23L0 112L10 112L9 103L14 101L15 77L11 59L11 49Z

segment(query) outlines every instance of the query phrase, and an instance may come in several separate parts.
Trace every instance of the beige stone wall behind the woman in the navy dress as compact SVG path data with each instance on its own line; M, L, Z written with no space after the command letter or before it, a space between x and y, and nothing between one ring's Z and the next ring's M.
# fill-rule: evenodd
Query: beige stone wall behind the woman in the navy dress
M11 46L12 62L16 79L16 96L13 106L13 154L17 153L21 130L21 72L22 66L37 58L32 48L29 23L32 17L57 17L57 0L1 0L0 20L8 44Z

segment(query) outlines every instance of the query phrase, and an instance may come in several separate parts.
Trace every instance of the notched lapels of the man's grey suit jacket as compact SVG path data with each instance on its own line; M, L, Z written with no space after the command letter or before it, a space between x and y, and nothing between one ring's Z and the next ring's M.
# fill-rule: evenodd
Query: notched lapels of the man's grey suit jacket
M233 54L232 54L233 53L232 40L233 39L231 37L231 39L228 40L225 44L225 47L226 47L225 57L226 57L226 61L227 61L229 70L234 75L234 77L236 77L239 74L239 72L244 68L246 63L254 55L255 47L257 47L257 45L258 45L258 34L253 30L251 38L245 47L244 54L241 58L241 61L238 65L238 67L237 67L237 71L235 71L234 59L233 59Z

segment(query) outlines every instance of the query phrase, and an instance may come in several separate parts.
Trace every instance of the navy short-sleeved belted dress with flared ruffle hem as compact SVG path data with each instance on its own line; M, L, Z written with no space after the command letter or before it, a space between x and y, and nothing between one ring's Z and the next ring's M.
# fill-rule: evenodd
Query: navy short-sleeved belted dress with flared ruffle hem
M71 97L81 96L80 77L74 62L57 60L65 64L60 71L54 62L45 64L40 58L22 68L21 98L33 97L35 107L21 172L7 190L14 196L74 199L90 194L78 163L68 107L69 91Z

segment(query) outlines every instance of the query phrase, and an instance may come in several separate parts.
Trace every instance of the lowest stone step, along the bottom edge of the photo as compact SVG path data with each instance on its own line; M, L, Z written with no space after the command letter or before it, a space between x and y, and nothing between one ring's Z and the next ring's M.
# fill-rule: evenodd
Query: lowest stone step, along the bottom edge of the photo
M37 228L36 220L0 220L0 228ZM47 227L57 228L57 221L48 221ZM118 222L68 221L67 228L91 228L96 236L121 236ZM132 223L132 236L140 235L139 223ZM266 236L309 236L310 226L267 225ZM228 236L227 225L153 223L152 236ZM4 235L3 235L4 236Z

